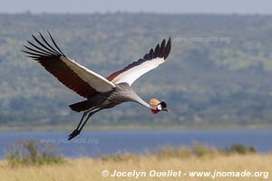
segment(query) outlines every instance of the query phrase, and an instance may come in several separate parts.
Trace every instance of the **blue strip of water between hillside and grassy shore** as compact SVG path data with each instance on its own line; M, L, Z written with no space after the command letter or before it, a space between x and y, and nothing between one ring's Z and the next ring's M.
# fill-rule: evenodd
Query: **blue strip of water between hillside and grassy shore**
M128 130L83 131L68 142L70 131L0 131L0 157L19 139L51 144L66 157L108 155L117 152L144 152L161 146L191 146L194 142L215 148L243 144L260 153L272 152L272 130Z

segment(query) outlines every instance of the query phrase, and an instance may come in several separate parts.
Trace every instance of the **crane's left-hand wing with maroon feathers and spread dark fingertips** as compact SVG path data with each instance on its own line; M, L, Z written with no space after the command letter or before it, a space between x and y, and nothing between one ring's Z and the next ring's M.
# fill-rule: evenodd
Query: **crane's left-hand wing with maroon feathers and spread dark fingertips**
M27 53L28 57L41 63L46 71L51 72L66 87L84 98L115 87L111 81L66 57L54 42L52 35L50 33L49 35L53 44L48 43L40 33L42 40L32 35L36 43L27 41L29 45L24 45L25 50L22 51Z

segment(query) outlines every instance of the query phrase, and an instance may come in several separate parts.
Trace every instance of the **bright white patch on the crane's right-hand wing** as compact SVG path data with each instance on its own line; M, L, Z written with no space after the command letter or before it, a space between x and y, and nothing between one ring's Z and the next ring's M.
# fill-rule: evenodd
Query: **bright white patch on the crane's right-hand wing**
M127 82L129 85L131 85L134 81L141 77L141 75L157 68L163 62L165 62L164 58L155 58L150 61L142 62L140 65L132 67L131 69L116 76L112 82L116 84Z

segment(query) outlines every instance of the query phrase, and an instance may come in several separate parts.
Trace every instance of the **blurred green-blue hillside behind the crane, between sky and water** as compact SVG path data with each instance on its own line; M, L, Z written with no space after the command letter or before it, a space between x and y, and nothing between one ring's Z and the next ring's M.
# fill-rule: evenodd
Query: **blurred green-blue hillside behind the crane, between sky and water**
M133 84L171 114L126 103L93 125L272 123L272 16L208 14L0 14L0 125L75 125L67 106L83 100L21 52L50 30L63 52L107 76L172 38L169 61Z

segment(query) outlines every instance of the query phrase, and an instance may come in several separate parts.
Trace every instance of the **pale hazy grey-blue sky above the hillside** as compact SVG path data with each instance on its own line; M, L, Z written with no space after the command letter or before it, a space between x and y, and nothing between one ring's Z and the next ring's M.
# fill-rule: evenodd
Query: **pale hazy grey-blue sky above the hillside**
M272 0L0 0L0 13L272 14Z

